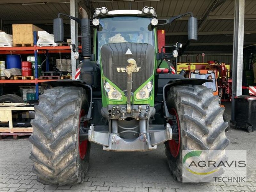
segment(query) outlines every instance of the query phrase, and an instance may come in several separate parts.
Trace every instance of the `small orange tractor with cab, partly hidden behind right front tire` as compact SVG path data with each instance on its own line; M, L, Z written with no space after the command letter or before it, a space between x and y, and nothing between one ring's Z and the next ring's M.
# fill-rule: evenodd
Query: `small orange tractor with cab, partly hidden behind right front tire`
M206 82L203 85L211 88L213 90L213 95L218 98L219 103L221 102L220 99L220 92L219 92L219 82L218 79L218 71L216 69L191 69L186 70L185 77L187 78L196 78L196 79L209 79L213 80L213 82ZM224 105L220 104L220 107L224 107ZM223 120L228 122L228 127L225 131L228 131L230 128L230 119L228 118L228 115L226 112L223 114Z

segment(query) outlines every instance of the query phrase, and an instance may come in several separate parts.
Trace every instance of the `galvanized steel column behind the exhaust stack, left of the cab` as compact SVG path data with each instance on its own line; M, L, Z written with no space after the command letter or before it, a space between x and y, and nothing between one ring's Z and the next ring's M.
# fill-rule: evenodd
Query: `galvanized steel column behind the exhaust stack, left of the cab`
M70 0L70 15L73 17L78 16L78 5L77 0ZM78 23L75 20L70 20L70 35L71 44L76 44L78 47ZM78 60L74 57L74 52L71 51L71 66L72 66L72 79L75 79L76 66L78 65Z

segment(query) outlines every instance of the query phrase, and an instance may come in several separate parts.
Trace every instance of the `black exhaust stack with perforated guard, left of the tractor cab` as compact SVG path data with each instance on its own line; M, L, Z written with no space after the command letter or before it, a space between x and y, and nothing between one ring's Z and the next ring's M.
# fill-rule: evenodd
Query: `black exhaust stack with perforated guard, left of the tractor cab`
M82 19L81 19L82 55L85 60L90 60L92 56L90 19L88 18L88 14L84 10L84 8L79 7L79 12L82 15Z

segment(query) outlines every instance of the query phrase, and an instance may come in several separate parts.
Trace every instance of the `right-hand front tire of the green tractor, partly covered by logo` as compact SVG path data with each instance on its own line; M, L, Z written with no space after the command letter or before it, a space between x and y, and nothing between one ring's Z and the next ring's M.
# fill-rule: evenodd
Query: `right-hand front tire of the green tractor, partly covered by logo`
M165 142L168 165L174 179L192 182L182 175L182 150L222 150L214 160L224 160L224 149L229 144L225 136L228 123L222 117L224 108L220 108L212 89L202 85L171 87L166 103L171 115L168 122L174 125L172 140Z

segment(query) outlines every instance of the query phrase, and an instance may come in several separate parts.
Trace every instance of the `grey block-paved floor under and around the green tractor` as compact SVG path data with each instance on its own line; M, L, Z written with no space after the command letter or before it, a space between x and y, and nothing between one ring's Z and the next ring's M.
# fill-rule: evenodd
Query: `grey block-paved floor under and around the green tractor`
M231 103L224 103L230 114ZM90 168L85 182L76 186L53 187L36 181L29 159L28 140L0 141L1 191L256 191L255 132L230 129L227 149L247 150L247 182L243 183L180 183L170 174L164 145L148 152L107 152L92 143Z

